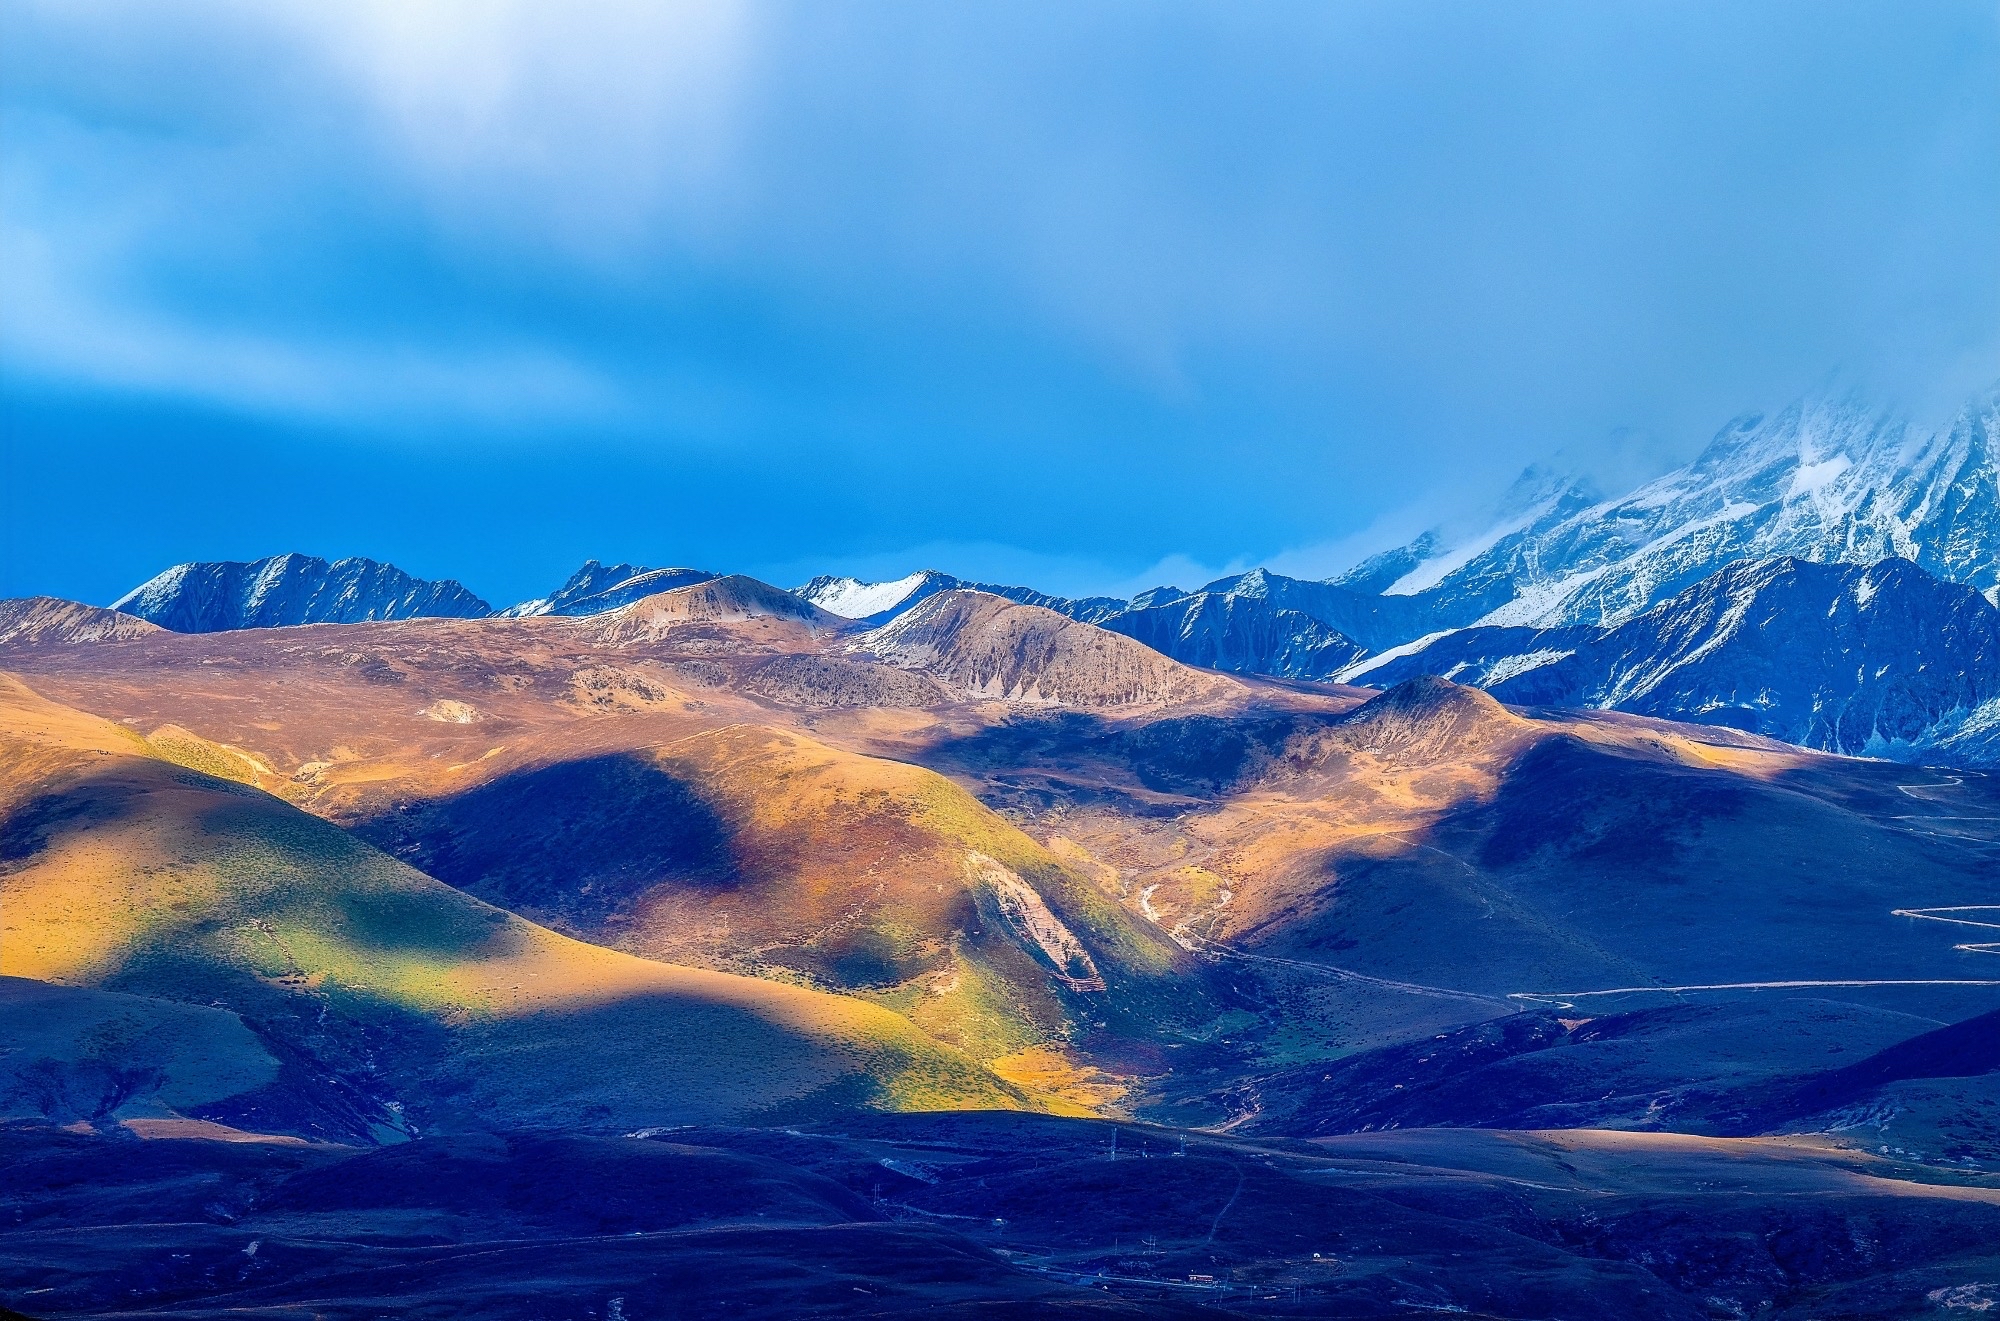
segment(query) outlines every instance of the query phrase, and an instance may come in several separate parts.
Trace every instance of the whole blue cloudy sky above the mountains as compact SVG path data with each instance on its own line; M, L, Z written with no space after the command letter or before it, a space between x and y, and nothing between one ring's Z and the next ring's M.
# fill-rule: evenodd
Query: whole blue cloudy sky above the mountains
M2000 378L1990 0L0 14L0 594L1326 574Z

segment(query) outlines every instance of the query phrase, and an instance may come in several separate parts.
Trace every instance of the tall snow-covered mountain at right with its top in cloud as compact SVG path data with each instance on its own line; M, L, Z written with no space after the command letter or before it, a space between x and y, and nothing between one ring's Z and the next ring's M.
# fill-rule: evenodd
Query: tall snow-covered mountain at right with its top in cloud
M1436 532L1334 582L1426 600L1440 626L1616 624L1732 560L1906 558L2000 586L2000 388L1924 432L1858 394L1722 428L1694 462L1616 498L1530 470L1488 530Z

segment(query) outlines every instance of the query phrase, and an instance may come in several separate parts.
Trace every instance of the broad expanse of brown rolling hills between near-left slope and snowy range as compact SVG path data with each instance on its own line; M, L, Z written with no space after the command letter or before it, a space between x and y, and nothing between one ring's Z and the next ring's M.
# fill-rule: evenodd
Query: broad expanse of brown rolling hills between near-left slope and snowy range
M1230 679L972 592L856 630L716 580L8 665L544 927L860 997L1160 1119L1280 1115L1286 1071L1586 1005L1640 1017L1520 1065L1556 1069L1536 1095L1660 1123L1640 1083L1592 1111L1570 1061L1724 1089L1710 1047L1760 1023L1774 1081L1828 1049L1798 1023L1886 1049L2000 981L1894 917L2000 903L1982 777L1438 679ZM1712 1023L1640 1013L1688 999Z

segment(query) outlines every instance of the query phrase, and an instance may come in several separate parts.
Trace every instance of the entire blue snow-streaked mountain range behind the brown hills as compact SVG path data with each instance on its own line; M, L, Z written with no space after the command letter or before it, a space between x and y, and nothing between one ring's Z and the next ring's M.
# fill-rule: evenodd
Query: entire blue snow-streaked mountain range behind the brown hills
M1816 396L1738 418L1690 464L1610 498L1534 466L1478 530L1428 530L1330 580L1256 568L1068 598L926 568L794 590L860 628L984 592L1202 669L1370 685L1452 675L1518 701L1990 765L1996 424L2000 390L1932 428L1858 394ZM498 614L602 614L712 578L590 560ZM114 608L178 632L492 612L456 582L298 554L178 564Z

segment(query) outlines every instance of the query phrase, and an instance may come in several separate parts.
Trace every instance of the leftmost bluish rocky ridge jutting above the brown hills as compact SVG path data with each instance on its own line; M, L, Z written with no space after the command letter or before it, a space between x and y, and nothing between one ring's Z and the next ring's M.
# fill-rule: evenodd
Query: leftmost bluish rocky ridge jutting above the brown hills
M492 614L490 604L450 578L428 582L380 560L326 562L310 554L174 564L112 608L174 632Z

